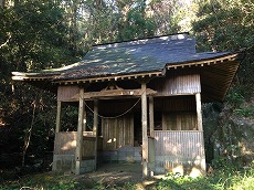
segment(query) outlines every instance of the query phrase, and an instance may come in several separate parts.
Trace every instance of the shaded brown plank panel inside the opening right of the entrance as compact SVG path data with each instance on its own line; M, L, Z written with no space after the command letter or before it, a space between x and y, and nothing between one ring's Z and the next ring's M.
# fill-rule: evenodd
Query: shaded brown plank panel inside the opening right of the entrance
M198 130L195 113L163 113L162 130Z

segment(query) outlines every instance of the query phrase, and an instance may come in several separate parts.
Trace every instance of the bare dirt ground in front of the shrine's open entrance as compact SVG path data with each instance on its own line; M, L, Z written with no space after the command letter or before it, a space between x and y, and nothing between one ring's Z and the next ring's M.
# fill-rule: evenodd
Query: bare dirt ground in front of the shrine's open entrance
M95 183L103 183L106 188L110 188L114 184L136 183L138 189L148 189L160 177L144 179L141 169L140 163L107 163L98 167L94 172L80 175L75 178L87 188L93 187Z

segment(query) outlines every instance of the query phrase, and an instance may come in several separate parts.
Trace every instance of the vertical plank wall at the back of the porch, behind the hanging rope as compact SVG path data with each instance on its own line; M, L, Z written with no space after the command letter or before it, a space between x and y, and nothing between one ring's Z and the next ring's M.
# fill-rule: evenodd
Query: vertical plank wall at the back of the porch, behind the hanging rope
M102 119L103 150L116 150L123 146L134 146L134 117Z

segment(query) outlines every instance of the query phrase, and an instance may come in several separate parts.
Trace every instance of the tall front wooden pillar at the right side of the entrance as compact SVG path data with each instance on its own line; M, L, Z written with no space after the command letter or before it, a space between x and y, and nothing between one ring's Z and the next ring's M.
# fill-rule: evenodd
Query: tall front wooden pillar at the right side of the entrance
M141 124L142 124L142 177L148 177L148 137L147 137L147 93L146 83L141 84Z

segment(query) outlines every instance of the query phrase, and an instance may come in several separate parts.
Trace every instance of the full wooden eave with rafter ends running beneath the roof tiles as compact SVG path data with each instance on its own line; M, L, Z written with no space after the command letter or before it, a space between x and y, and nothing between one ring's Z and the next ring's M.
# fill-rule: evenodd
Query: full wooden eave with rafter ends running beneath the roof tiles
M72 85L72 84L87 84L108 81L123 81L123 80L140 80L161 77L166 74L167 70L179 68L198 68L201 76L201 88L204 102L223 101L229 87L233 81L233 77L240 65L240 53L229 53L218 57L210 57L205 60L197 60L181 63L166 64L162 71L150 71L142 73L127 73L127 74L112 74L112 75L97 75L86 76L84 78L66 78L61 80L60 73L42 76L40 73L12 73L13 81L23 81L40 88L47 88L55 92L59 85Z

